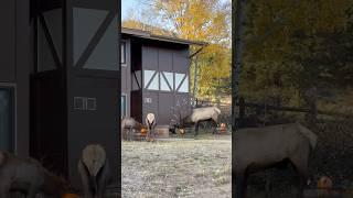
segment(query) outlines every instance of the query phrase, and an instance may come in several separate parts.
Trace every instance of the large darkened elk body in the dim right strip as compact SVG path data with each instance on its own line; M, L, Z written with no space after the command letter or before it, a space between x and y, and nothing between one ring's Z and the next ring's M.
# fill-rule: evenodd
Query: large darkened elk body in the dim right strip
M303 196L308 161L317 145L317 135L300 123L240 129L235 134L236 197L246 196L248 174L290 163L300 183L298 197Z

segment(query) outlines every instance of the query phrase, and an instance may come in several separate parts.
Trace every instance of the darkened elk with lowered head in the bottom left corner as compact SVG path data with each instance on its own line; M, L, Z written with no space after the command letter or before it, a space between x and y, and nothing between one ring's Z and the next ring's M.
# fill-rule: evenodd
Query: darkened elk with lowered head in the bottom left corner
M43 193L49 196L64 196L68 184L45 169L38 161L19 158L10 153L0 152L0 198L10 197L10 191L20 191L26 198Z

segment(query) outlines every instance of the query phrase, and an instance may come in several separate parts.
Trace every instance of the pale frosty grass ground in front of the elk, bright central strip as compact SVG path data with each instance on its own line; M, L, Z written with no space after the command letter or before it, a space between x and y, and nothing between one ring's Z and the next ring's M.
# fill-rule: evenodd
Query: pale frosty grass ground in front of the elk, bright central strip
M122 197L231 197L229 135L122 142Z

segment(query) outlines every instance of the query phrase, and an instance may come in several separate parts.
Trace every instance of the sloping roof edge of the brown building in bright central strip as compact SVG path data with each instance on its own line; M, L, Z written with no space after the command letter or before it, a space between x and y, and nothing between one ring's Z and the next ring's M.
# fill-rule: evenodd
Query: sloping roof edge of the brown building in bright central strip
M206 46L208 44L206 42L201 42L201 41L191 41L191 40L183 40L183 38L173 37L173 36L156 35L156 34L152 34L151 32L137 30L137 29L122 28L121 33L129 34L136 37L163 41L163 42L170 42L170 43L179 43L179 44L185 44L185 45Z

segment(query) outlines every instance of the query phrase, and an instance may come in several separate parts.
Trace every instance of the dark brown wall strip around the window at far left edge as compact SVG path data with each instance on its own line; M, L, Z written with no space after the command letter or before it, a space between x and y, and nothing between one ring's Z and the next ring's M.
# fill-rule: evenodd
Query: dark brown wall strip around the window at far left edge
M13 90L14 152L29 155L29 70L30 3L29 0L0 2L0 86Z

